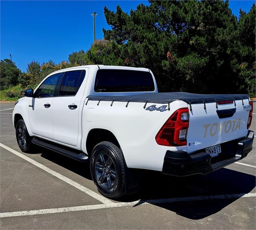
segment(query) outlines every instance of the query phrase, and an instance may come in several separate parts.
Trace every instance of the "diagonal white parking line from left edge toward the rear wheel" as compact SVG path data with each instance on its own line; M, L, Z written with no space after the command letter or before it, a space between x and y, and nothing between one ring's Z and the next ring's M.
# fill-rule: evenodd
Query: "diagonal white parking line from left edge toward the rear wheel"
M94 199L102 202L105 206L109 206L110 204L114 204L114 202L112 202L111 200L108 200L107 198L105 198L104 196L101 196L100 194L93 192L92 190L82 186L81 184L76 183L74 180L71 180L69 178L67 178L66 176L63 176L62 174L55 172L54 170L36 162L35 160L32 160L31 158L17 152L16 150L13 150L12 148L9 148L8 146L0 143L0 146L2 148L5 148L6 150L8 150L9 152L12 152L13 154L15 154L16 156L21 157L22 159L30 162L31 164L34 164L35 166L37 166L38 168L41 168L42 170L52 174L53 176L56 176L57 178L59 178L60 180L63 180L64 182L70 184L71 186L81 190L82 192L88 194L89 196L92 196Z

